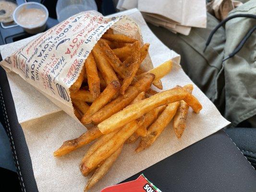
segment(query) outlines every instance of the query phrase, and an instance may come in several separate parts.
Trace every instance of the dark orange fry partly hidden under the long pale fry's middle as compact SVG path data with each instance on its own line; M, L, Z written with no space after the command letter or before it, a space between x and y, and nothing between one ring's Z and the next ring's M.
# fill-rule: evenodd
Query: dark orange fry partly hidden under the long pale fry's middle
M126 143L133 144L140 136L145 137L147 128L154 122L154 120L157 119L158 114L161 113L166 108L166 105L160 106L158 108L154 108L154 110L151 110L147 112L145 116L144 123L134 132L134 134L129 137L129 139L126 141ZM142 129L144 132L143 134L138 132L139 129Z

